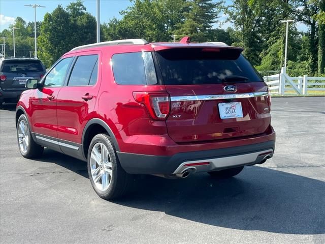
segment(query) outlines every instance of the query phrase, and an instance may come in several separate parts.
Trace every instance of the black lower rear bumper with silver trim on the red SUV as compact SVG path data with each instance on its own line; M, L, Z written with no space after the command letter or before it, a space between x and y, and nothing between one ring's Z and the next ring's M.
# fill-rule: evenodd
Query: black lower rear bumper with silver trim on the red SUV
M212 150L190 151L173 156L152 156L117 152L122 168L131 174L163 174L181 173L188 164L209 163L196 165L197 172L207 172L233 168L241 165L254 165L264 158L272 158L275 140L219 148Z

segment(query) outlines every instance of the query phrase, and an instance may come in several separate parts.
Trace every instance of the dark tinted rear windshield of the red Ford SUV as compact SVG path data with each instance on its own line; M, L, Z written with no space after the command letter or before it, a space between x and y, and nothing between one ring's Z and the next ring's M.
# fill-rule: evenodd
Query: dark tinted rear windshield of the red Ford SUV
M240 49L183 48L156 52L166 85L262 82Z

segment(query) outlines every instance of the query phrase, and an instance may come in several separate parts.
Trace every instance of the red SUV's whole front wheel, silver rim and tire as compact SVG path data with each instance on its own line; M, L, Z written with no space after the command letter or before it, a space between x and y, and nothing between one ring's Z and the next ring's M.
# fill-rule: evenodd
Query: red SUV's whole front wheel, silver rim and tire
M17 139L20 154L27 159L37 158L43 154L44 147L32 139L25 114L20 115L17 123Z

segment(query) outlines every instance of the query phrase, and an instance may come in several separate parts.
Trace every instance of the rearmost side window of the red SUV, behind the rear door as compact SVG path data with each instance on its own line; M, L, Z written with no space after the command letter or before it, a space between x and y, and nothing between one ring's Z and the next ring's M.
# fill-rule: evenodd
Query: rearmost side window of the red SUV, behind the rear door
M112 67L117 84L145 85L157 83L151 52L114 54Z

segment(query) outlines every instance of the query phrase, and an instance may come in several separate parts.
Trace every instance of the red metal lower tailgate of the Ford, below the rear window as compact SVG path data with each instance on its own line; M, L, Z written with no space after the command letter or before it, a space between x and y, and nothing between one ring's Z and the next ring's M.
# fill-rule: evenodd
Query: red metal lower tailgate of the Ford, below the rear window
M267 87L263 82L254 84L254 91L251 83L237 84L239 93L232 95L224 94L223 87L224 85L166 86L171 95L171 112L166 124L168 134L174 141L234 138L260 134L267 130L271 115ZM227 108L232 110L234 105L238 111L232 114L230 112L233 111L229 112ZM231 117L221 118L221 115Z

